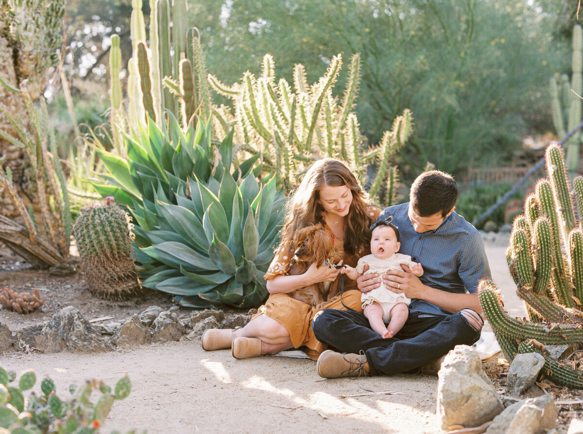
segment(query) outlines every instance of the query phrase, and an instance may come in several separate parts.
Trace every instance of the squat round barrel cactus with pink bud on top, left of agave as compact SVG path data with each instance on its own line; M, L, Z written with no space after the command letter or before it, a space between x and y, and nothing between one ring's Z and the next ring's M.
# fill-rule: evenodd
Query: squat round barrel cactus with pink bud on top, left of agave
M83 207L73 234L89 290L108 299L124 299L138 292L131 223L113 198Z

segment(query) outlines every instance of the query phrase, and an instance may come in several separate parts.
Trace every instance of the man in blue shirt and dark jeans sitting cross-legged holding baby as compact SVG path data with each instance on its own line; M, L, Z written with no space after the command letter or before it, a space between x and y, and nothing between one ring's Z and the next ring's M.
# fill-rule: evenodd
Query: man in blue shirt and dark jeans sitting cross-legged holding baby
M483 321L477 297L490 267L479 232L455 213L458 186L440 171L419 175L410 202L386 208L378 219L393 217L401 232L401 250L423 266L416 277L408 267L389 274L363 274L359 290L380 285L411 298L409 318L394 338L383 339L356 311L325 309L312 322L319 341L349 354L324 351L316 369L325 378L393 375L421 366L439 369L440 358L455 345L472 345ZM366 271L366 269L365 269Z

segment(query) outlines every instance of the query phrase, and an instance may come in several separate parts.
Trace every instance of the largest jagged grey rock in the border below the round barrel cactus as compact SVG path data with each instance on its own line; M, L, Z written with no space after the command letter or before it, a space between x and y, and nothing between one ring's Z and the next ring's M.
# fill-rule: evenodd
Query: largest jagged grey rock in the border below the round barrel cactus
M111 344L73 306L67 306L52 316L39 331L37 327L22 330L22 339L45 352L107 351Z

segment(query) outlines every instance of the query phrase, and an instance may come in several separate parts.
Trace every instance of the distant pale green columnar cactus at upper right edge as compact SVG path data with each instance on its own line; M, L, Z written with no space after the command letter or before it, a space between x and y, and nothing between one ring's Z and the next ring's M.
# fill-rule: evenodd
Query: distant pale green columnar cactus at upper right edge
M581 107L583 102L583 27L575 24L573 27L573 59L571 62L573 77L571 82L567 75L553 76L550 79L550 94L552 98L553 123L559 138L567 131L575 128L581 122ZM567 144L567 169L573 179L579 164L579 146L581 134L575 133Z

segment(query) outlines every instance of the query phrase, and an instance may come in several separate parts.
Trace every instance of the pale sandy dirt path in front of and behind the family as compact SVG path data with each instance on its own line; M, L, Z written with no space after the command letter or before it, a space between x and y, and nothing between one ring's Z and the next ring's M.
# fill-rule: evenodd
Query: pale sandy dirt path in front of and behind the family
M494 281L503 291L508 311L523 316L524 304L514 295L504 250L487 246ZM127 373L131 394L115 402L101 432L441 431L436 417L437 377L324 380L310 359L237 360L229 350L202 350L199 340L100 354L6 353L0 355L0 364L16 372L34 369L37 377L50 375L63 396L68 395L70 383L98 378L113 386Z

